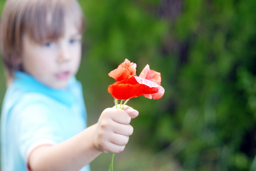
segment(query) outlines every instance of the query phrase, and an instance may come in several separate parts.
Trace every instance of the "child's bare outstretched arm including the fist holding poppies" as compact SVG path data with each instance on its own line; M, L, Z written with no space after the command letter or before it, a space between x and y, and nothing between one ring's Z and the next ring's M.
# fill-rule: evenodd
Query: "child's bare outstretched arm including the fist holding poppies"
M107 108L98 123L56 145L38 146L29 156L31 170L79 170L102 152L122 152L133 133L130 125L138 111Z

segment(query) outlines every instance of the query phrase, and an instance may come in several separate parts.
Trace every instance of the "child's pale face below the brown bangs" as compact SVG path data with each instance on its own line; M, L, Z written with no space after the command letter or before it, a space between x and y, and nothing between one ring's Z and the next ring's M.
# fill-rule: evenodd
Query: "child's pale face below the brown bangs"
M81 38L77 28L66 22L65 34L55 42L34 43L23 36L23 70L52 88L66 88L81 60Z

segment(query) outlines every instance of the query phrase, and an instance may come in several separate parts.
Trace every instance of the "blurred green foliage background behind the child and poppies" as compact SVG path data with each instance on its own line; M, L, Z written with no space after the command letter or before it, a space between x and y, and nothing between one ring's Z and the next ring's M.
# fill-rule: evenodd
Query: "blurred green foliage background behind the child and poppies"
M129 101L140 114L115 170L256 170L255 0L79 2L87 28L77 78L88 124L114 105L107 74L125 58L137 74L146 64L161 72L166 91ZM110 160L102 154L91 170L107 170Z

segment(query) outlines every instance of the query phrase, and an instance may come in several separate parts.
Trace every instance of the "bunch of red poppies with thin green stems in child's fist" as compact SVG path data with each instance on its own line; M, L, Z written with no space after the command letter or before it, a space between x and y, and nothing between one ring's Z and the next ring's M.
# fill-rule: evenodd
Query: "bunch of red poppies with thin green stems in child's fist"
M118 107L118 100L121 100L120 108L123 109L127 101L133 97L143 95L148 99L157 100L165 93L165 89L161 86L160 72L150 70L147 64L141 74L137 76L136 67L137 64L125 59L125 62L109 73L109 76L117 81L107 89L114 97L116 107ZM126 100L125 103L123 103L123 100ZM113 170L113 158L114 153L109 171Z

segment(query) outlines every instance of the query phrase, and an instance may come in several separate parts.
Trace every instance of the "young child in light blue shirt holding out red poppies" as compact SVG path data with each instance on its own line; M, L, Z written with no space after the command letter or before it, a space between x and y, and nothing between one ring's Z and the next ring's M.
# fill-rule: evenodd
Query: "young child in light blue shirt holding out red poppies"
M2 170L90 170L122 152L138 111L107 108L86 128L81 84L84 18L75 0L7 0L0 27L8 87L1 116Z

